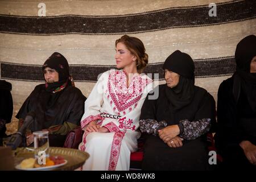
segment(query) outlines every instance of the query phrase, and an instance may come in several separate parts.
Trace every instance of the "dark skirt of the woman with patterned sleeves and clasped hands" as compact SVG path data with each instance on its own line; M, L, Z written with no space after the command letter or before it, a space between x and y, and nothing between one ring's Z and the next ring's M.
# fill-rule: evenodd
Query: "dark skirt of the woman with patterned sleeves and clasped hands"
M171 148L162 139L149 136L144 145L143 170L209 170L207 143L201 139L184 140Z

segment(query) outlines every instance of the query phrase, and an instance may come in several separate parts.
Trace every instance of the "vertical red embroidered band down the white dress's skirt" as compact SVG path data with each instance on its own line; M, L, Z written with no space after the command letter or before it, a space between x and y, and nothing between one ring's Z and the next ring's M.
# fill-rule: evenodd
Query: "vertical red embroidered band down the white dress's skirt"
M123 136L125 136L125 131L118 131L114 134L110 151L109 171L114 171L117 167Z

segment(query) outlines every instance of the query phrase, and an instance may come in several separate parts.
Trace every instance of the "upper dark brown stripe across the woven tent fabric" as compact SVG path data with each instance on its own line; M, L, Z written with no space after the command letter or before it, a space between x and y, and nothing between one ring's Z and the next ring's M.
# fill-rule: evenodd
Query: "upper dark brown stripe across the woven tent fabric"
M9 16L0 15L0 32L16 34L123 34L177 27L222 24L256 17L255 1L217 5L217 16L208 15L210 8L194 7L126 16Z

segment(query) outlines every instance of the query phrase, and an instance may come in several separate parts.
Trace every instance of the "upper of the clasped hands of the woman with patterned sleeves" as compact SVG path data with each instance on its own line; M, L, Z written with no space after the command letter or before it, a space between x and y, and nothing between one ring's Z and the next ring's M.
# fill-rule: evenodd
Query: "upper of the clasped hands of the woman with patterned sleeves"
M173 139L179 134L180 134L180 129L179 129L179 126L177 125L167 126L161 130L158 130L158 135L160 139L164 141L164 143L167 143L168 141L170 141L171 139Z

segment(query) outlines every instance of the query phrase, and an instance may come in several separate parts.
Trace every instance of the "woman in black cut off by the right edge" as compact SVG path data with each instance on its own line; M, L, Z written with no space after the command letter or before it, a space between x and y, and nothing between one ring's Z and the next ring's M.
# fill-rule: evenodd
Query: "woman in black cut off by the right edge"
M223 169L256 169L256 36L243 38L236 72L218 89L215 144Z

